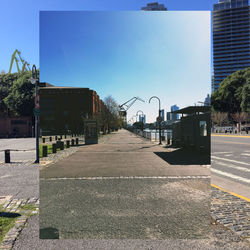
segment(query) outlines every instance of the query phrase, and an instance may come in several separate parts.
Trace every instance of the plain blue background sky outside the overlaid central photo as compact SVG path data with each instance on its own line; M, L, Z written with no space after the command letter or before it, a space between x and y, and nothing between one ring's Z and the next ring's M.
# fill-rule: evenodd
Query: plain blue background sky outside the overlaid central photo
M1 0L0 71L8 72L15 49L39 68L39 11L56 10L140 10L148 0ZM217 0L161 0L168 11L212 10ZM12 72L16 71L15 66ZM210 91L209 91L210 92ZM208 92L208 93L209 93Z

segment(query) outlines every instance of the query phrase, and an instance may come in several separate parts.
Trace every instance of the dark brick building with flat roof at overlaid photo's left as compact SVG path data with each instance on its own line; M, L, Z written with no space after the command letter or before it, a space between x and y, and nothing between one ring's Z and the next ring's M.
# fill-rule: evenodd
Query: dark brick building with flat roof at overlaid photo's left
M83 133L83 121L98 120L105 105L88 88L41 87L40 129L42 135Z

